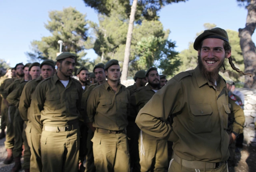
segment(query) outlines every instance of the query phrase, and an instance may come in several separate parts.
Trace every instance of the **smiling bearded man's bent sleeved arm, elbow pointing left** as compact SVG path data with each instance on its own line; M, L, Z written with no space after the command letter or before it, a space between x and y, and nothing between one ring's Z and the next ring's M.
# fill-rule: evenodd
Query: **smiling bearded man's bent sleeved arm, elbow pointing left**
M169 116L174 118L175 114L181 111L182 104L182 86L171 79L140 110L135 122L147 134L175 142L178 136L172 130Z

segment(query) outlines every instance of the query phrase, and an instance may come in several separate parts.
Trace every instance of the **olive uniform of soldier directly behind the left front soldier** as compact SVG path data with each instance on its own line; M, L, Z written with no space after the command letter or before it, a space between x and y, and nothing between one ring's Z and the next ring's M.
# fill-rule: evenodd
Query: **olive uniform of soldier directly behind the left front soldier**
M19 103L19 110L20 110L20 116L24 120L24 123L26 124L25 128L25 134L26 139L28 142L28 146L30 148L30 171L36 172L42 171L42 160L41 160L41 150L40 150L40 137L42 133L42 129L39 128L38 130L35 129L32 122L35 118L33 118L34 113L32 112L32 115L30 114L30 103L32 99L32 95L36 89L36 86L39 84L39 82L42 81L42 76L39 76L38 78L29 81L22 91L22 94L20 96L20 103ZM26 147L25 147L26 150Z

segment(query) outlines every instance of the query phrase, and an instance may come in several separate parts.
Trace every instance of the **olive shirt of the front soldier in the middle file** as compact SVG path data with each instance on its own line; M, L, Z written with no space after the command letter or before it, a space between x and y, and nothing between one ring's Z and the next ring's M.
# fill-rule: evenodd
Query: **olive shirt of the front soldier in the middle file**
M116 93L108 82L95 87L87 100L86 122L93 122L95 128L123 130L128 125L130 114L130 93L118 84Z

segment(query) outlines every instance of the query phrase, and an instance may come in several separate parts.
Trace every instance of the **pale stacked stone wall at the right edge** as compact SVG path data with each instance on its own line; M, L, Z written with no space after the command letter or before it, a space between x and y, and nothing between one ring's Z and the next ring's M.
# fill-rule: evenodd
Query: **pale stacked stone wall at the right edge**
M256 89L238 88L244 94L244 144L256 147Z

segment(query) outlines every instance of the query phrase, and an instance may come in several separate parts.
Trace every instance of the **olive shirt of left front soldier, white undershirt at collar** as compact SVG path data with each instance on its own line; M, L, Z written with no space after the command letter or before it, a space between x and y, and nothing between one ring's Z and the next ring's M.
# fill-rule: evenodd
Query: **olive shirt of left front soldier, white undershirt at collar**
M54 74L38 84L30 106L38 124L68 126L78 122L81 98L82 86L78 80L70 77L65 88Z

